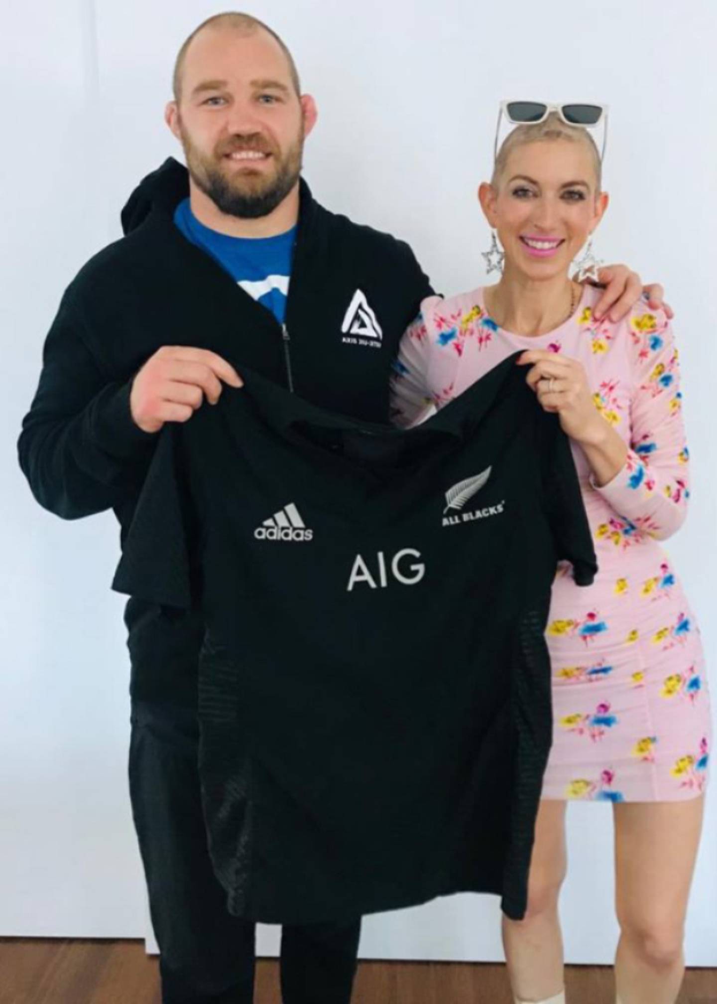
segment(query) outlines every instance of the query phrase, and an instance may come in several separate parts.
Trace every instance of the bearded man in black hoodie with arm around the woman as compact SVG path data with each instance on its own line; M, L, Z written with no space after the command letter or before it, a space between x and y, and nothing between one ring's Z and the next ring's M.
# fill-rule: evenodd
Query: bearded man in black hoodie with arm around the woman
M398 339L431 292L410 248L328 213L300 180L316 106L284 43L244 14L211 18L176 60L167 161L133 193L125 236L62 298L20 463L37 500L112 508L124 541L165 422L185 422L242 365L315 404L386 421ZM637 276L604 270L626 310ZM661 290L652 292L661 299ZM187 347L190 346L190 347ZM251 616L251 609L248 610ZM198 616L130 599L129 785L164 1004L250 1002L254 926L213 873L198 772ZM286 1004L348 1002L360 919L285 927Z

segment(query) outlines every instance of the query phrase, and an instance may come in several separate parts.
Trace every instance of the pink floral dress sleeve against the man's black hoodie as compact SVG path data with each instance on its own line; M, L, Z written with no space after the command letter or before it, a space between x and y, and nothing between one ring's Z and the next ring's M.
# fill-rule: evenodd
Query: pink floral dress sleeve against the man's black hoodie
M402 429L418 425L433 411L428 387L430 339L424 311L432 300L421 303L421 310L403 332L390 378L390 419Z

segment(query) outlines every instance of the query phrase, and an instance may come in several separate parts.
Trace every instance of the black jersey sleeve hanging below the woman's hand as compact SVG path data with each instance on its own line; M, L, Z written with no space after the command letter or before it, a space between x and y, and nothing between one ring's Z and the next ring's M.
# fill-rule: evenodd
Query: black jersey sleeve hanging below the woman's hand
M573 565L577 585L592 585L598 561L570 440L558 416L542 409L537 444L544 507L556 552Z

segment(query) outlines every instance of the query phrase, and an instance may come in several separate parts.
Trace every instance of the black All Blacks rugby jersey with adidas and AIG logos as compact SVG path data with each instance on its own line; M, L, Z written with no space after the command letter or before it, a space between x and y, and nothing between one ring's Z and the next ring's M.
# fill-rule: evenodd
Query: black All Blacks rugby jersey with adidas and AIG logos
M167 425L113 588L201 608L200 772L236 916L525 909L557 563L597 566L570 445L506 359L422 425L243 370ZM193 546L188 546L193 541Z

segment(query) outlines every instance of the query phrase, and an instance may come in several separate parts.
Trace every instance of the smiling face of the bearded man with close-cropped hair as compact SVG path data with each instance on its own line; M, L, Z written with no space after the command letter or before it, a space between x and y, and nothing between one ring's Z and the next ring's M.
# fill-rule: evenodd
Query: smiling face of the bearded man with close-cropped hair
M271 35L210 28L187 52L181 102L167 116L195 184L223 213L255 219L296 185L315 110Z

